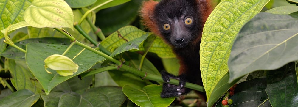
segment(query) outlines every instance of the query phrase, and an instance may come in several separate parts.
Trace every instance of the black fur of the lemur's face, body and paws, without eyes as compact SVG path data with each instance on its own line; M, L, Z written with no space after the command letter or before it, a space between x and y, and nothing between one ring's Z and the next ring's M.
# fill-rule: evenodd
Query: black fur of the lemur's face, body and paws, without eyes
M190 92L184 88L186 82L203 85L201 81L199 47L204 23L200 17L196 0L162 0L156 5L154 18L162 38L172 46L174 53L180 59L180 75L174 76L162 72L165 81L161 97L180 96ZM185 19L191 18L192 23L185 24ZM169 30L164 24L170 25ZM177 40L180 40L177 42ZM179 86L167 84L169 78L179 80ZM205 94L205 93L201 93Z

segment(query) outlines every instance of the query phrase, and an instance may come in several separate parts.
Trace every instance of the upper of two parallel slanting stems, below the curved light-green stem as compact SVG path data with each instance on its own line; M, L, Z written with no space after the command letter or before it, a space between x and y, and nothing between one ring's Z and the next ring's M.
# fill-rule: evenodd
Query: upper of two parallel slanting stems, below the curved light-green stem
M79 9L81 13L84 13L83 9ZM97 28L91 21L91 19L89 17L86 17L86 21L89 23L89 25L91 26L92 31L94 32L94 34L97 35L97 37L100 38L100 40L105 40L105 35L103 34L103 32L101 31L100 28Z

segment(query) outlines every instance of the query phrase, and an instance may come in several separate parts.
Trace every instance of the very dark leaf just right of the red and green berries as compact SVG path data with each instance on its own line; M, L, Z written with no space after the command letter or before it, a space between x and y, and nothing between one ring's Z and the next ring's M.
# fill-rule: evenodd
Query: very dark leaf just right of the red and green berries
M233 104L229 106L271 107L265 92L266 87L266 78L251 79L237 84L234 95L229 97L233 100ZM216 107L221 107L221 101L217 103Z

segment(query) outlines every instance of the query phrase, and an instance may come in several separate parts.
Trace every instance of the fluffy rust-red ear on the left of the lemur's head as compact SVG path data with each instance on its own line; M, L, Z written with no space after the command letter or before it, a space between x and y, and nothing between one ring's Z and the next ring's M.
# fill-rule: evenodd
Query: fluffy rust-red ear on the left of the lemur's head
M154 32L157 35L160 35L159 30L157 29L157 22L154 18L155 6L158 4L157 1L149 0L142 3L142 8L140 10L142 22L146 28L150 29L151 32Z

